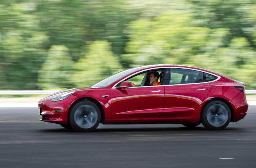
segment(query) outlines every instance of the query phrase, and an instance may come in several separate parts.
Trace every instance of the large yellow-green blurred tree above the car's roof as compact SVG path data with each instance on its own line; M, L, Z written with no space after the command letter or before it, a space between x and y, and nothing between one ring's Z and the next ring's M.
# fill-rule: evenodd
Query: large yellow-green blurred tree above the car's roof
M179 16L179 17L175 17ZM140 19L130 24L128 54L122 55L131 66L157 63L187 63L202 52L210 29L191 23L192 14L172 11L151 19Z

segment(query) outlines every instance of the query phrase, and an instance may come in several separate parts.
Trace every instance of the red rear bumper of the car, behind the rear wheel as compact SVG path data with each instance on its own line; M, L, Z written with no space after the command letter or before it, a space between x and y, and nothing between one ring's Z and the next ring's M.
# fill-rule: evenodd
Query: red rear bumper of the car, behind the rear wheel
M236 122L243 119L247 114L248 103L245 101L241 103L233 103L232 105L234 109L234 116L232 122Z

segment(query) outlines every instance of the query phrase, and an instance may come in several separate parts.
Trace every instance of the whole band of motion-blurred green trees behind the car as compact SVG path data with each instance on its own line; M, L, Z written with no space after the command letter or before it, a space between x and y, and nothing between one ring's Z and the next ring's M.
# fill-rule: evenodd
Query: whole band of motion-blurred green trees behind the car
M182 64L256 89L255 0L1 0L0 89L86 87Z

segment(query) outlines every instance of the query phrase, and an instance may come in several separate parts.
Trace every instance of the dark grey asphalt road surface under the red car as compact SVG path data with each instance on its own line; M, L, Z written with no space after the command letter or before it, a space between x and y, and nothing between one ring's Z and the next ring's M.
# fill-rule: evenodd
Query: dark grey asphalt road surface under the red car
M256 167L256 106L222 131L100 125L83 133L38 118L37 108L0 108L1 168Z

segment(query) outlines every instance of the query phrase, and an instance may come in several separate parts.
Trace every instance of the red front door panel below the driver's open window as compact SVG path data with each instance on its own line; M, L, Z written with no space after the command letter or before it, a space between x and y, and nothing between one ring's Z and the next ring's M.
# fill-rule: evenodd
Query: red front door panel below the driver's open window
M144 81L143 79L141 81ZM164 85L122 89L113 87L111 110L113 119L162 118L164 117Z

